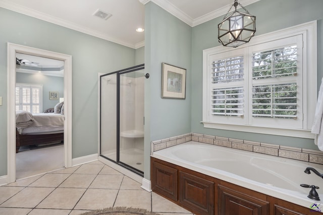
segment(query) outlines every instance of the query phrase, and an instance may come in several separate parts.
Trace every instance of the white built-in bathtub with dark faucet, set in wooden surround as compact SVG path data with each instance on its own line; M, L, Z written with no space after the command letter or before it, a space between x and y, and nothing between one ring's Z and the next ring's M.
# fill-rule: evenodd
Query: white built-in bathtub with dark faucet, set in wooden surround
M153 152L152 157L307 208L319 201L309 199L310 189L300 184L316 185L323 205L323 179L304 173L306 167L323 173L323 165L195 141Z

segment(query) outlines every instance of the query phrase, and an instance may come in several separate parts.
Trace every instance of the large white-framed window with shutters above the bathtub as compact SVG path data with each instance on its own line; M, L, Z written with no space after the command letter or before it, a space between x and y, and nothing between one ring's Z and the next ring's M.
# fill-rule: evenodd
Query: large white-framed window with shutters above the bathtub
M311 138L316 22L203 51L203 124ZM311 39L309 39L311 38ZM297 133L297 134L295 134Z

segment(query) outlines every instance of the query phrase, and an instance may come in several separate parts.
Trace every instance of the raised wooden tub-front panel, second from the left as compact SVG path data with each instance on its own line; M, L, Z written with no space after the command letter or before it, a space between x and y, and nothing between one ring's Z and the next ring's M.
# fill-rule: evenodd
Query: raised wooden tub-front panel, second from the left
M214 183L180 172L180 203L196 214L213 214Z

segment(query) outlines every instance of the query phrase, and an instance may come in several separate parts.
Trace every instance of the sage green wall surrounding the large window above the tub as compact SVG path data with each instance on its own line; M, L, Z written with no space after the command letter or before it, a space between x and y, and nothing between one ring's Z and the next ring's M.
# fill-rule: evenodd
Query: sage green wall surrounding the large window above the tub
M256 16L256 34L295 26L317 20L317 87L319 89L323 76L322 38L323 38L323 1L321 0L271 0L259 1L245 7L250 14ZM223 16L210 20L192 29L192 132L219 135L232 138L261 141L284 146L315 149L313 139L265 135L221 129L203 128L202 121L202 51L203 49L219 46L218 24Z

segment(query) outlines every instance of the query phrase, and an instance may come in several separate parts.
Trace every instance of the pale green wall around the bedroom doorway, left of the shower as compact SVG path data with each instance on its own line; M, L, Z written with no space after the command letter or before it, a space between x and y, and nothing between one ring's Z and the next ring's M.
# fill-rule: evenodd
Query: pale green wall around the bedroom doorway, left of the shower
M7 175L7 42L72 55L72 157L96 154L97 73L135 65L135 50L0 8L0 176Z

